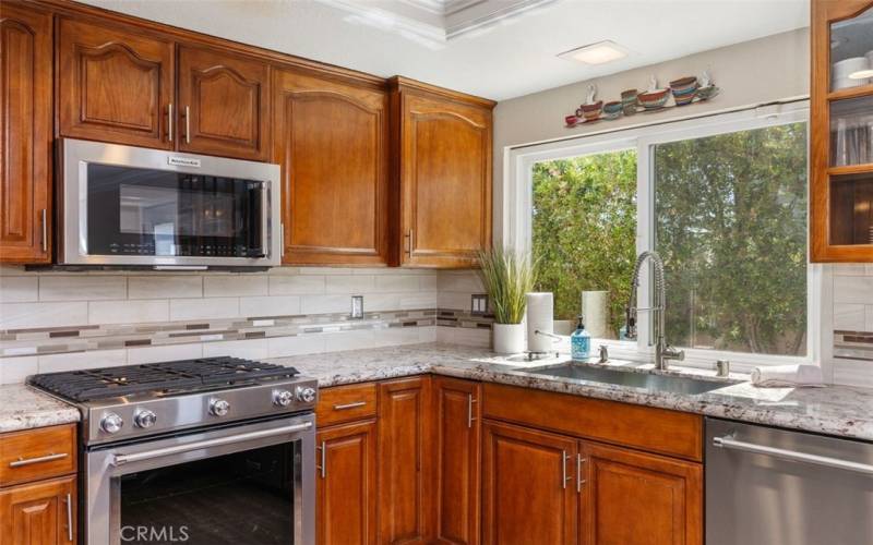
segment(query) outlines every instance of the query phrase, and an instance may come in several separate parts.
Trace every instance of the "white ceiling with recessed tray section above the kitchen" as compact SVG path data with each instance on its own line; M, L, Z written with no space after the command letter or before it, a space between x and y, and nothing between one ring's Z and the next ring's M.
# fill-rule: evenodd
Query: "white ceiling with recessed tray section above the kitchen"
M810 11L809 0L84 2L497 100L804 27ZM453 33L464 25L473 27ZM555 57L605 39L630 55L600 65ZM718 66L713 72L717 77Z

